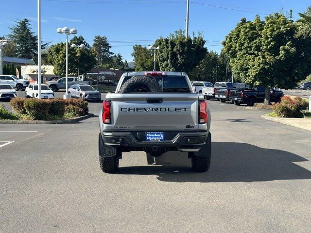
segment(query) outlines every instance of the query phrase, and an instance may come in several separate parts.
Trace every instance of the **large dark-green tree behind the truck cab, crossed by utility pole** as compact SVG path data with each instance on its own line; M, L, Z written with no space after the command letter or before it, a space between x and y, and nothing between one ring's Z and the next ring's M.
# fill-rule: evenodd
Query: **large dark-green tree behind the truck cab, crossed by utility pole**
M156 60L160 70L190 72L205 57L204 44L201 33L191 38L179 30L167 38L160 37L155 41L155 46L159 47Z

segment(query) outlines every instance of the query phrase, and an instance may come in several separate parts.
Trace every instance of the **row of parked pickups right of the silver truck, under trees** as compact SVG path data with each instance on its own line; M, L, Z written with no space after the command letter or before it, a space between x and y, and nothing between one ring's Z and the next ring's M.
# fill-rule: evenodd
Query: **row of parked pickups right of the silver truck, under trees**
M211 83L210 83L211 84ZM195 92L202 92L205 99L215 98L221 102L232 101L236 105L246 104L253 106L256 102L263 102L265 87L259 86L250 88L244 83L217 82L210 85L209 82L192 82ZM201 87L201 88L199 88ZM284 96L283 92L274 88L270 89L272 102L279 102Z

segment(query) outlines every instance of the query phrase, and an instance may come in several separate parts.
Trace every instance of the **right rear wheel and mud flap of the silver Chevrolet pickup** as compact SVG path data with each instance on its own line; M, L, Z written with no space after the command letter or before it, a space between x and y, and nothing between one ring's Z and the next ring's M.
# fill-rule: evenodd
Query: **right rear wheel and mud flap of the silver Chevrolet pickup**
M191 157L191 165L194 171L206 172L210 167L211 158L211 134L208 133L206 144Z

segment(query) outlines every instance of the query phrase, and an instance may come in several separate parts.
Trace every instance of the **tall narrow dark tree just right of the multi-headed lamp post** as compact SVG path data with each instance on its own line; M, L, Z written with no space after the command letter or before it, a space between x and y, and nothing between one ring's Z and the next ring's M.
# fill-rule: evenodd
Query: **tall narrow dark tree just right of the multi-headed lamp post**
M95 55L97 66L109 66L112 62L113 52L106 36L96 35L94 38L92 50Z

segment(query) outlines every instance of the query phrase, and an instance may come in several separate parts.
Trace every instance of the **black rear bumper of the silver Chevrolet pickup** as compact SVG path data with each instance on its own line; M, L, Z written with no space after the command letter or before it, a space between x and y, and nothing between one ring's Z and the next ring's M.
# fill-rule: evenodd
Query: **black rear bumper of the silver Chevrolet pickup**
M176 148L180 151L195 152L205 145L208 132L177 133L172 140L167 141L138 141L131 132L102 132L104 145L128 148Z

